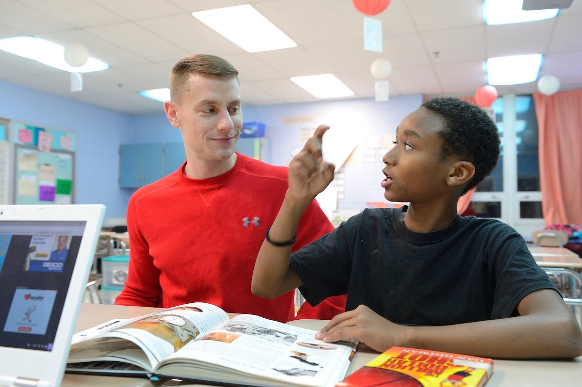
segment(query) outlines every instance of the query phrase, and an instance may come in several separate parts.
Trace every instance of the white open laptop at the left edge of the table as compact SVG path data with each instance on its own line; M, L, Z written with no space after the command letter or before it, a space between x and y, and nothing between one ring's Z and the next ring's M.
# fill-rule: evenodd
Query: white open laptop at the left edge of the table
M104 214L0 205L0 386L61 385Z

